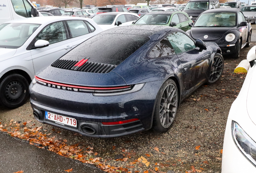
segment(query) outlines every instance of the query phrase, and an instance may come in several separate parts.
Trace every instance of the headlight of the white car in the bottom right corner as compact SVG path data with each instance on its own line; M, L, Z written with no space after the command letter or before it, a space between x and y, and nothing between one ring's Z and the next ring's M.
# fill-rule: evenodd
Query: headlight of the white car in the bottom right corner
M256 166L256 143L235 121L232 121L231 130L232 137L239 150L254 166Z

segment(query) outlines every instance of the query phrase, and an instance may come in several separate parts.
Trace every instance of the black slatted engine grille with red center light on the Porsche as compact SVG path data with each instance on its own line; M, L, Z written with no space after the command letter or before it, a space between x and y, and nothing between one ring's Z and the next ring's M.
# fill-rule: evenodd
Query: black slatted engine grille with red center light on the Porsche
M67 70L93 72L93 73L108 73L108 72L111 72L111 70L113 70L114 68L116 68L115 65L98 63L98 62L85 61L85 63L82 66L79 66L79 64L78 65L77 64L78 64L78 61L75 61L75 60L57 60L52 64L52 66L56 68L67 69Z

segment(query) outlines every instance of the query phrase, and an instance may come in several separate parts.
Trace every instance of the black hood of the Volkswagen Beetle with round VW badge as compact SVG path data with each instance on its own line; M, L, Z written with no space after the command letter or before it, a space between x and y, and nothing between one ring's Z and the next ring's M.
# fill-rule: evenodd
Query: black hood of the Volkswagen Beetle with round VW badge
M195 40L200 38L201 40L218 40L221 38L226 32L232 30L234 28L230 27L192 27L191 28L191 36ZM207 38L204 36L207 35Z

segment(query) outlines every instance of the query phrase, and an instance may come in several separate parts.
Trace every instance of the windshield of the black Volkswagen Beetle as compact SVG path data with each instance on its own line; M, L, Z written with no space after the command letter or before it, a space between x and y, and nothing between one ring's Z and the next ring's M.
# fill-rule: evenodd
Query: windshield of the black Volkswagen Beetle
M220 12L201 14L193 27L233 27L236 23L235 13Z

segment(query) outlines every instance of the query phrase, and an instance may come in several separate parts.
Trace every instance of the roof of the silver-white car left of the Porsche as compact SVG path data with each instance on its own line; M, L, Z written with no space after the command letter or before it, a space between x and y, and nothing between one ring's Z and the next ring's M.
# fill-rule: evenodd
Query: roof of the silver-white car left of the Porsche
M33 17L33 18L22 18L17 20L10 20L5 23L30 23L30 24L44 24L58 22L62 20L87 20L88 22L93 21L90 18L81 18L81 17L70 17L70 16L51 16L51 17Z

